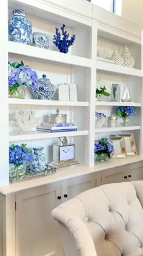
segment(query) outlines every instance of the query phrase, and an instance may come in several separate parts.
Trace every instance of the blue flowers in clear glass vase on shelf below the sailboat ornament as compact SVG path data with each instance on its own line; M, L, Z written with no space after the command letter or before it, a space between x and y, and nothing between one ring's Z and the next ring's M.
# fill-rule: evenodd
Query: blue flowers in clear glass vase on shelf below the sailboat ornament
M135 107L118 107L116 109L116 115L121 118L122 126L125 126L127 124L128 116L136 115L136 108Z

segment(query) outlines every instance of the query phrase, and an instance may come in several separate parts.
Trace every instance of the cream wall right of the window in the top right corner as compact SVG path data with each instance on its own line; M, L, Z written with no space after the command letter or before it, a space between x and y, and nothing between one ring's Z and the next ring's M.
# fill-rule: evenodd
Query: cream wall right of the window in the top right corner
M143 29L143 1L122 0L122 17L142 26Z

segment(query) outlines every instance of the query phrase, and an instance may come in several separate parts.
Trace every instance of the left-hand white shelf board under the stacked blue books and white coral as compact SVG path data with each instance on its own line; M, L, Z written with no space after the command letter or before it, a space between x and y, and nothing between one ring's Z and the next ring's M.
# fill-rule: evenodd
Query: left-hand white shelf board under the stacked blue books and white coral
M27 140L44 140L48 138L58 138L58 137L74 137L88 135L88 130L78 130L76 132L31 132L28 134L10 134L9 141L27 141Z

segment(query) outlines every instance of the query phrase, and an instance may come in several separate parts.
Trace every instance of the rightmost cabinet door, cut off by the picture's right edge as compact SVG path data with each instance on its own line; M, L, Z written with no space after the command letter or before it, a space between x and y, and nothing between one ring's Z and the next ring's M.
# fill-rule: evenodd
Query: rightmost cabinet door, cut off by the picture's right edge
M143 180L143 162L128 166L128 181Z

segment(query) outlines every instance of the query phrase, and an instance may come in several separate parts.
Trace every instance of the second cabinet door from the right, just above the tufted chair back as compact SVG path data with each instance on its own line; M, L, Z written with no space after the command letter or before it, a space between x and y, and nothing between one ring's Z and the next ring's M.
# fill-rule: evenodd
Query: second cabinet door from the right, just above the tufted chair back
M118 183L127 181L127 167L107 169L102 171L102 184Z

